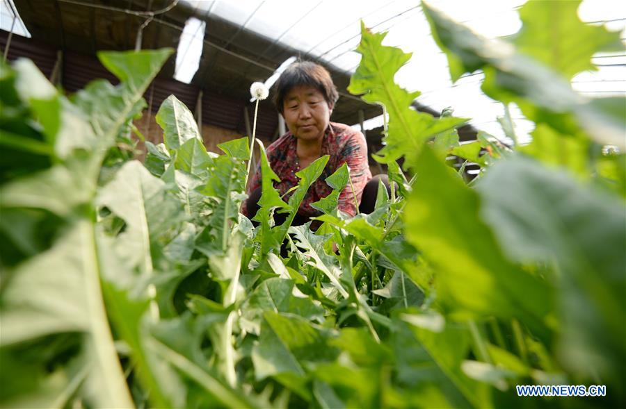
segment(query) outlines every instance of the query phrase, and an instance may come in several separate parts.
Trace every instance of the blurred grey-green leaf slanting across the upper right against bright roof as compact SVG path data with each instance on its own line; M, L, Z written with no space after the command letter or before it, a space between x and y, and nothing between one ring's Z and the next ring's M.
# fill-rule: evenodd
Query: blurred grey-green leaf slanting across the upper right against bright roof
M561 74L517 52L513 44L485 39L426 4L424 14L435 42L448 57L453 81L466 72L483 69L482 90L489 97L515 102L529 119L546 122L561 132L582 127L597 142L626 148L623 115L607 115L597 103L574 92ZM579 46L575 43L573 47ZM623 107L623 98L617 100Z

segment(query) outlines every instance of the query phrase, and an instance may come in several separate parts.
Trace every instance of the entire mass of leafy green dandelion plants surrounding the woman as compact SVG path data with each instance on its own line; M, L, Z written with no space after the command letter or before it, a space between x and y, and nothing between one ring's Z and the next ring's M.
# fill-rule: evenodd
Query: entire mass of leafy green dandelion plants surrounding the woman
M483 69L485 91L536 122L513 149L485 133L460 145L465 119L411 110L417 93L393 81L410 56L362 26L350 89L389 114L378 159L395 185L347 217L335 169L316 231L291 224L328 156L284 201L261 147L252 221L248 138L207 152L175 97L163 143L133 160L131 120L170 51L102 53L120 85L70 99L31 62L0 65L0 144L15 154L0 165L0 405L625 406L626 160L601 146L623 100L581 101L565 82L615 35L552 3L527 3L504 51L424 6L453 78ZM556 20L547 41L540 22ZM520 400L514 385L533 383L609 392Z

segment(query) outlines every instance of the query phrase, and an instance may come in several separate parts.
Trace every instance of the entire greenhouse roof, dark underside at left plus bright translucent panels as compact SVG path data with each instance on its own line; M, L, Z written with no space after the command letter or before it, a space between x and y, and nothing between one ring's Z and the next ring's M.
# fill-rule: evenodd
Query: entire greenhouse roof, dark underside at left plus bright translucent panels
M521 25L517 8L524 2L430 1L485 37L514 35ZM28 28L34 38L87 53L132 49L136 44L175 47L177 56L162 75L187 76L183 81L241 99L247 97L252 81L265 81L290 57L320 60L330 68L342 96L333 119L356 124L362 110L364 118L371 119L367 127L374 128L382 122L380 108L368 106L346 91L360 60L354 50L362 21L373 31L387 31L386 44L413 53L412 60L396 74L396 81L408 90L422 92L417 99L421 106L436 112L451 106L456 116L472 118L476 128L502 135L497 117L504 106L481 92L481 72L451 81L447 58L433 41L417 1L15 0L15 5L26 23L20 27ZM150 10L157 11L151 15ZM607 23L611 30L623 30L626 3L584 0L579 15L589 24ZM7 24L3 18L2 28L7 30ZM599 70L582 72L572 85L591 97L623 95L625 61L623 51L597 55L593 62ZM527 134L532 124L512 108L518 133Z

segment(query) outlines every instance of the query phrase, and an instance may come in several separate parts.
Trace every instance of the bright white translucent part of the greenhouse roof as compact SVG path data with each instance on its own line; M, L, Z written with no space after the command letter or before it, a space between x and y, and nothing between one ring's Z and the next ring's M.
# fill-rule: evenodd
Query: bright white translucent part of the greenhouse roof
M514 35L521 26L517 8L526 0L450 1L431 0L450 17L463 22L485 37ZM481 72L463 76L453 83L447 58L430 35L426 17L419 2L412 0L376 1L202 1L186 0L196 13L213 14L298 50L305 58L315 58L345 72L354 72L360 55L355 52L360 41L360 24L373 31L388 31L386 44L413 53L413 58L398 74L396 81L408 90L419 90L419 103L440 112L451 106L455 115L472 118L472 124L495 135L501 135L496 117L503 114L501 103L486 97L480 90ZM579 15L590 24L607 23L611 30L624 30L626 3L610 0L585 0ZM270 49L261 50L266 56ZM626 93L623 53L599 55L594 62L597 72L575 77L575 90L589 96ZM520 134L531 131L531 123L522 119L513 107ZM370 127L382 123L375 119Z

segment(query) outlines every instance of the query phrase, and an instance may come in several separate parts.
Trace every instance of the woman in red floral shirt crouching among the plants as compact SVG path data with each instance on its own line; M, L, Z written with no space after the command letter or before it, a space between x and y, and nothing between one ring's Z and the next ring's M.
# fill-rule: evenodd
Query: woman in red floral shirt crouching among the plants
M330 74L314 62L295 62L276 82L273 101L284 117L289 131L266 149L270 166L280 178L280 183L275 183L274 187L281 195L285 194L298 184L296 172L321 156L330 156L320 178L311 185L300 205L294 226L309 222L310 217L321 215L321 212L311 207L311 203L332 192L332 188L324 180L344 163L350 168L356 199L360 202L360 212L369 213L374 210L378 178L372 179L369 171L365 137L350 126L330 122L332 108L338 98L337 87L332 83ZM291 192L283 199L287 201L290 195ZM248 196L243 206L243 214L251 219L259 210L259 168L250 181ZM338 207L351 216L357 212L357 204L349 184L339 194ZM275 222L280 224L285 216L278 214L274 217Z

